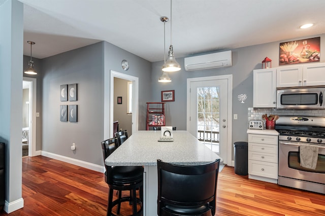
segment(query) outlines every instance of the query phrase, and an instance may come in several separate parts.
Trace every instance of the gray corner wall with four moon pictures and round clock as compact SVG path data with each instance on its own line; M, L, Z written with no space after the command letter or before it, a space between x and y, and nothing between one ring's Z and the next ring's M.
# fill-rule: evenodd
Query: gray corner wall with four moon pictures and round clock
M122 59L129 61L127 71L121 68ZM41 145L41 150L48 153L102 165L100 142L104 139L104 109L109 109L104 107L104 86L109 85L104 83L104 73L109 74L110 70L114 70L139 77L141 107L150 95L143 87L143 83L150 81L150 69L150 62L108 42L42 59L42 81L38 80L43 86L40 99L42 111L37 112L41 113L43 124L41 130L37 128L37 133L42 133L41 144L37 139L37 146ZM78 85L78 100L60 101L60 85L74 83ZM113 102L112 99L110 101ZM78 105L76 123L60 122L59 107L69 104ZM143 126L139 124L140 129L145 128L143 118L139 117L143 122ZM73 142L76 143L76 151L70 149Z

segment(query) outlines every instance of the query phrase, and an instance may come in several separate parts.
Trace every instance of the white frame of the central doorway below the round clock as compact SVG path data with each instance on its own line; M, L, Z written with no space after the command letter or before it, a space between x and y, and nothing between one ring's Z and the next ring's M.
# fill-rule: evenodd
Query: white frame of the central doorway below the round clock
M110 75L107 73L104 75L104 83L110 84L104 84L104 140L112 138L110 134L113 134L113 121L111 120L114 119L114 77L133 82L132 133L138 131L139 78L110 70Z

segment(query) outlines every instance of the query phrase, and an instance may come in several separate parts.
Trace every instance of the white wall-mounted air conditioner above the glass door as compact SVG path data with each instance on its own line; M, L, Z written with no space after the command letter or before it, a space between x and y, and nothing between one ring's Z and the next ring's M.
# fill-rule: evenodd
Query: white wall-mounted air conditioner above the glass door
M233 65L232 51L224 51L184 58L185 70L203 70Z

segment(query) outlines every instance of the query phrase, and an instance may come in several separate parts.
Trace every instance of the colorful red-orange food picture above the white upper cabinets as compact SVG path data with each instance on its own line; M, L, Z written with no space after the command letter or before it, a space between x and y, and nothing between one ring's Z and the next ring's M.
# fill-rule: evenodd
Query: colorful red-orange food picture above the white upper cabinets
M280 43L279 65L320 61L320 37Z

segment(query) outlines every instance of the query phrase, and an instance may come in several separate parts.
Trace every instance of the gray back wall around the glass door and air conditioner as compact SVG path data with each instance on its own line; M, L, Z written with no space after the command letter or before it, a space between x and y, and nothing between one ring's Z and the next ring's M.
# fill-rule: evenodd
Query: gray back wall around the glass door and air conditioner
M320 37L320 41L325 41L325 34L311 35L310 37L297 38L292 40L301 40L306 38ZM175 90L175 101L166 104L166 122L168 125L177 126L177 130L186 130L186 79L196 77L208 77L219 75L233 75L233 114L238 114L238 120L233 120L232 142L247 141L248 107L253 106L253 69L261 69L262 61L265 57L272 59L272 67L278 67L279 44L278 41L268 44L261 44L249 47L233 49L233 66L222 67L197 71L186 71L184 69L184 58L177 58L182 69L178 72L169 73L172 79L171 83L159 83L161 76L161 66L163 61L152 63L152 94L151 102L160 102L160 92L164 90ZM325 50L325 43L321 44L321 51ZM177 49L175 49L177 56ZM321 57L320 62L325 62ZM245 103L237 99L239 94L247 94Z

